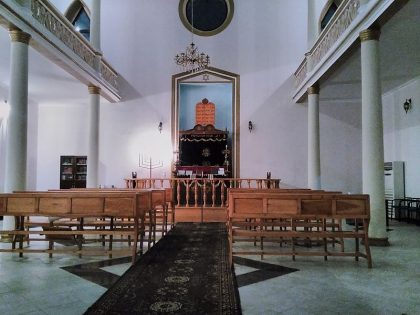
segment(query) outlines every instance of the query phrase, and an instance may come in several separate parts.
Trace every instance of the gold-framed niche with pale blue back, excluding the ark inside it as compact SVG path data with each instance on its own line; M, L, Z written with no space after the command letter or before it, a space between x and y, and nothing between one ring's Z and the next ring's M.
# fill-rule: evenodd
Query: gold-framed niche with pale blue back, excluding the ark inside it
M172 76L172 146L179 151L179 132L195 125L195 105L206 98L216 105L217 129L226 130L230 150L230 176L239 177L239 75L208 67ZM174 154L175 162L176 156Z

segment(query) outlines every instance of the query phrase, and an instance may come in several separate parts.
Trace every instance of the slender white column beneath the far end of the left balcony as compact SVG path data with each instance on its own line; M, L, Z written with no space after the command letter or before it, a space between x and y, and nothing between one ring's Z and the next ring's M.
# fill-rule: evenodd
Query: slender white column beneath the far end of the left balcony
M101 89L89 86L89 135L87 156L87 188L97 188L99 168L99 104Z

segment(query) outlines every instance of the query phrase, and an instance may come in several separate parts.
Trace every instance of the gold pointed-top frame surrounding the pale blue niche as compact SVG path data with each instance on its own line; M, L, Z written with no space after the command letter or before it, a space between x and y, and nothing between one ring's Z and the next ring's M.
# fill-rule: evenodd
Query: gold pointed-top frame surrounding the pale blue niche
M203 80L203 76L208 76L209 80ZM240 76L235 73L221 69L208 67L204 70L191 72L181 72L172 76L172 147L179 146L179 85L183 82L230 82L232 83L232 174L231 177L239 178L240 170ZM172 161L174 163L175 161ZM173 166L173 165L172 165Z

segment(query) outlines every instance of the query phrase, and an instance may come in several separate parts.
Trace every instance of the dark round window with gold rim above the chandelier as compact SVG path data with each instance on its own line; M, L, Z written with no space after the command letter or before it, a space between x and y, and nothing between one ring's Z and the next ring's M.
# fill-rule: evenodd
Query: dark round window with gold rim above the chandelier
M233 0L180 0L178 10L189 31L212 36L223 31L232 20Z

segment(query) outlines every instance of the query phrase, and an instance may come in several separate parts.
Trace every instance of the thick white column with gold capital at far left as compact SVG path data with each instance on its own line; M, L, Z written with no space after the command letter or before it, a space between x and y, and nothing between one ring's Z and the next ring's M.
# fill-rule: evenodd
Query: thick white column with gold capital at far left
M28 44L30 35L11 29L9 117L7 120L4 191L26 189L28 129ZM3 219L3 229L14 228L14 217Z

